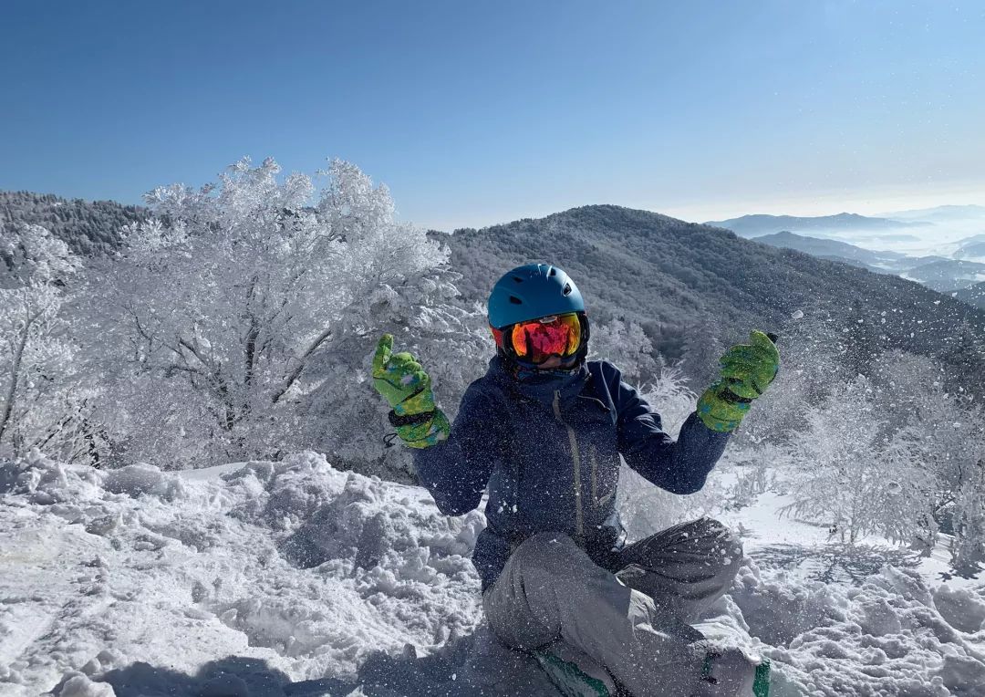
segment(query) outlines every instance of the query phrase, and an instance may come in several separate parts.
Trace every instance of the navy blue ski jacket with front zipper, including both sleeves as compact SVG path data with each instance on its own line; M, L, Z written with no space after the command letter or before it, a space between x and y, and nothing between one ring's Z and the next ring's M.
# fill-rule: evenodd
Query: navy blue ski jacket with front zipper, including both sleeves
M447 516L477 508L489 487L488 525L472 555L485 590L537 532L564 532L593 558L611 550L622 534L621 454L657 486L690 494L704 486L728 438L691 414L675 442L611 363L520 382L496 356L466 390L448 439L416 451L414 461Z

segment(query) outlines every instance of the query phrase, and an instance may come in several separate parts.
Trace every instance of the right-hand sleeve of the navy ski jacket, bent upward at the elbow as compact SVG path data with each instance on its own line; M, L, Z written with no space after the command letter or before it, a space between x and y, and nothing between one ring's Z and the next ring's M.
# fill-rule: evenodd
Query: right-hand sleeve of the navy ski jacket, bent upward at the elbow
M717 433L692 413L675 441L667 435L660 414L622 381L616 370L611 391L618 414L618 448L626 464L650 482L674 494L693 494L725 452L729 434Z

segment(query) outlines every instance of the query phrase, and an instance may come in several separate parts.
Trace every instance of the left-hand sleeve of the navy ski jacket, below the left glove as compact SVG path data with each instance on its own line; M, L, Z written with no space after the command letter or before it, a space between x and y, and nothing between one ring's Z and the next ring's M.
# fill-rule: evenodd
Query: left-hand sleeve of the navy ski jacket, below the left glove
M499 421L479 383L472 383L462 397L448 438L414 452L418 478L445 516L467 514L482 501L500 457Z

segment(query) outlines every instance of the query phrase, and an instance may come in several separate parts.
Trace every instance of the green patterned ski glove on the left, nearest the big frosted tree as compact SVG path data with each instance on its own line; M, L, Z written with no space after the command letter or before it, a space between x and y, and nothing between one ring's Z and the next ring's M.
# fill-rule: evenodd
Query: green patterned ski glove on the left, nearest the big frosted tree
M411 448L427 448L448 437L451 427L434 405L430 376L406 351L393 353L393 334L383 334L372 359L372 384L393 409L390 423Z

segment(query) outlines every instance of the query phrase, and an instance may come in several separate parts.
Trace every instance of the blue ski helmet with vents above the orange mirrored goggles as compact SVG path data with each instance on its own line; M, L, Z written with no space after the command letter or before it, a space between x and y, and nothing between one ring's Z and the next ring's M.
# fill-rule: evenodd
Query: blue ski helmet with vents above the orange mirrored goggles
M551 264L517 266L495 282L490 294L490 325L496 329L548 314L584 312L574 281Z

